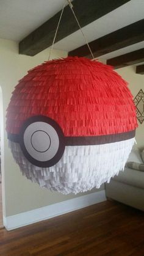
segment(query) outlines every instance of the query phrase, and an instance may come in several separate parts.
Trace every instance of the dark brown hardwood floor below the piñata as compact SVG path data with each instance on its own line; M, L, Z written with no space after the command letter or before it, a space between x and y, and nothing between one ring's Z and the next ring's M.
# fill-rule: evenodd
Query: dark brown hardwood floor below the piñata
M107 201L21 229L1 229L0 255L143 256L144 213Z

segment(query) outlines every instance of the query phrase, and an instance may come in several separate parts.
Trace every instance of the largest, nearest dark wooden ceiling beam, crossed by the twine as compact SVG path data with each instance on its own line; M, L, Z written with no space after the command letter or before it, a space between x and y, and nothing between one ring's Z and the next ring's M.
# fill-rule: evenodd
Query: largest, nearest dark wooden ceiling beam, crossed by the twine
M129 1L130 0L73 0L73 9L81 27L84 27ZM19 43L19 53L34 56L51 46L60 13L61 11L35 29L31 34L27 35L27 37ZM62 20L60 21L55 42L59 42L59 40L62 40L78 29L79 27L77 26L73 13L67 5L63 12Z

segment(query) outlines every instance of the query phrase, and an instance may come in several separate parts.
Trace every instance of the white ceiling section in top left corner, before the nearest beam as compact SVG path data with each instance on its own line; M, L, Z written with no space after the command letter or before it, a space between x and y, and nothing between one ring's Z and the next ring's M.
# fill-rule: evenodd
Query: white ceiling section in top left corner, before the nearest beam
M0 38L20 41L62 9L65 0L0 0Z

